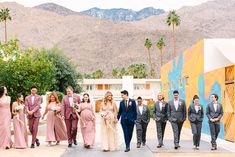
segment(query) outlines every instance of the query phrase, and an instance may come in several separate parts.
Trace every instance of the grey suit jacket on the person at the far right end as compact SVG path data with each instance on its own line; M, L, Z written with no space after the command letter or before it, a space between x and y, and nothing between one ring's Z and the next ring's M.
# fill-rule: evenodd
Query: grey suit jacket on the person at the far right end
M209 103L206 107L206 115L208 117L209 122L211 118L218 118L219 120L215 123L220 123L220 120L223 116L223 106L222 104L218 103L217 110L215 111L213 103Z

